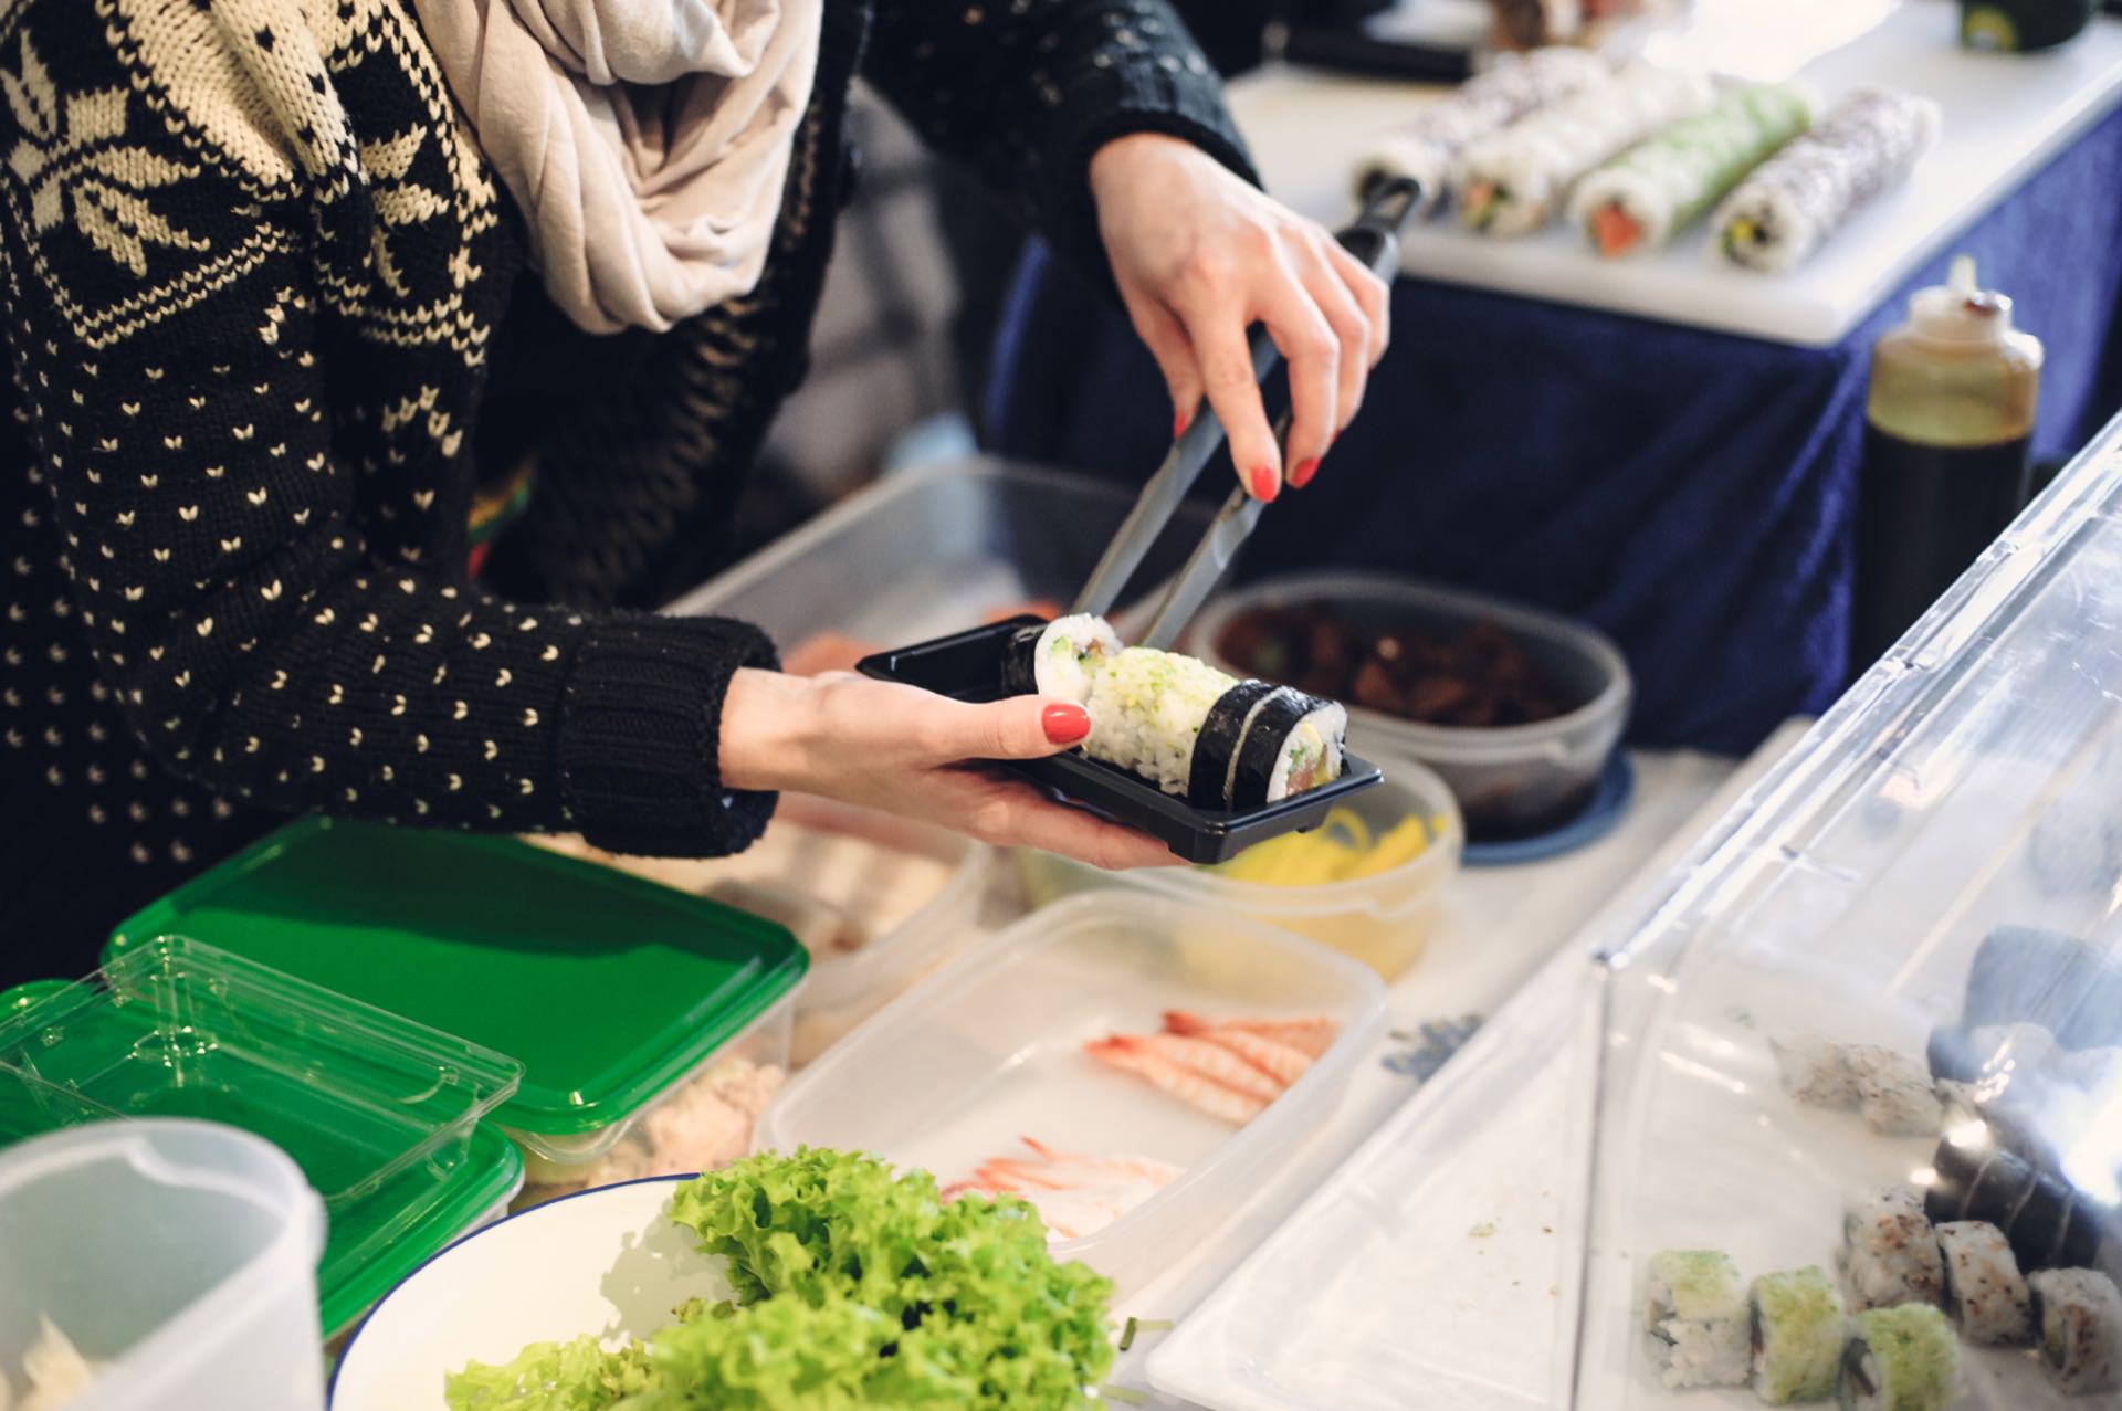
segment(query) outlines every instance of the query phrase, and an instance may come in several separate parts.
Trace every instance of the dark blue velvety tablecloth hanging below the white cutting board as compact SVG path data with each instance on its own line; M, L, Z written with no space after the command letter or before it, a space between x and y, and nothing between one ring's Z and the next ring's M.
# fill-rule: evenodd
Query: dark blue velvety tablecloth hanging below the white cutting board
M1831 348L1403 278L1362 416L1260 520L1239 575L1392 569L1581 615L1630 658L1638 743L1751 749L1848 679L1872 342L1971 252L2048 346L2035 456L2069 454L2122 401L2118 216L2122 112ZM1127 323L1033 248L997 337L989 446L1137 477L1169 418Z

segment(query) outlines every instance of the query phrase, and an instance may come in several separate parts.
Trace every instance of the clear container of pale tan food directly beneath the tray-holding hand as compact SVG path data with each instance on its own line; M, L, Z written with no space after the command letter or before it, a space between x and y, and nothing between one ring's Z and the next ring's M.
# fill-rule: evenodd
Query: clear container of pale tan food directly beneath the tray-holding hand
M785 796L734 857L618 857L533 838L779 921L811 953L789 1059L802 1067L974 938L993 849L944 828Z

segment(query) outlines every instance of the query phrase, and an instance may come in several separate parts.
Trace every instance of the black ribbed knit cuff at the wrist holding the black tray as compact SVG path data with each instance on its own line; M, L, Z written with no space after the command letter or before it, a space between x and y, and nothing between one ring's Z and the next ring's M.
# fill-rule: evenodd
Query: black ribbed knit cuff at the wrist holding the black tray
M724 617L605 617L567 685L560 777L581 836L611 853L719 857L751 847L775 794L721 785L721 700L743 666L777 668Z

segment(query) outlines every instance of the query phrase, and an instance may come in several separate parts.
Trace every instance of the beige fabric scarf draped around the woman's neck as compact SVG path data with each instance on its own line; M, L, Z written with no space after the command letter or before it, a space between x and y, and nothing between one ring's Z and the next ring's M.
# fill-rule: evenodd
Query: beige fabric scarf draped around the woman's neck
M668 329L760 280L821 0L414 0L584 329Z

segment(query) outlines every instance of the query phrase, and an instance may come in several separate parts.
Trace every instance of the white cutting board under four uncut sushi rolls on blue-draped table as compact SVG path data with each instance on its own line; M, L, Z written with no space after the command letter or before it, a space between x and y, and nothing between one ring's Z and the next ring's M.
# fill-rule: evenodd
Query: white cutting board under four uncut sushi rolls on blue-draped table
M1797 0L1791 0L1797 2ZM1704 0L1708 19L1759 0ZM1848 6L1863 11L1863 4ZM1744 333L1780 344L1840 342L1925 259L2010 195L2086 127L2122 102L2122 21L2101 17L2075 42L2041 55L1980 55L1956 42L1959 11L1946 0L1906 0L1840 49L1799 72L1833 100L1859 83L1886 83L1935 98L1944 136L1910 182L1886 193L1789 276L1761 276L1710 261L1708 231L1683 231L1666 250L1602 261L1575 229L1528 240L1471 236L1449 219L1409 231L1403 267L1422 278L1638 314L1659 323ZM1857 25L1861 28L1861 25ZM1734 23L1695 38L1659 40L1657 57L1693 49L1708 66L1736 49ZM1774 32L1774 30L1772 30ZM1778 76L1789 34L1763 42L1751 76ZM1269 70L1231 85L1231 108L1269 191L1320 221L1347 219L1350 172L1369 140L1411 112L1430 89ZM2107 221L2111 210L2088 210ZM2010 293L2010 291L2005 291Z

